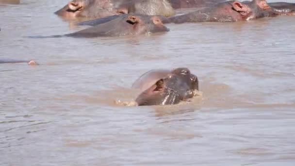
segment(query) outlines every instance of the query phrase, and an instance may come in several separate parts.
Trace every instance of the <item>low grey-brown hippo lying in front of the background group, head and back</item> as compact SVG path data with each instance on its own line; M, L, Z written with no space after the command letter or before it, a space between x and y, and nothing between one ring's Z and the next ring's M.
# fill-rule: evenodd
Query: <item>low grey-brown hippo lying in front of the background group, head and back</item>
M85 30L66 34L70 37L121 36L146 33L167 32L160 18L144 15L123 15L107 23L99 24Z

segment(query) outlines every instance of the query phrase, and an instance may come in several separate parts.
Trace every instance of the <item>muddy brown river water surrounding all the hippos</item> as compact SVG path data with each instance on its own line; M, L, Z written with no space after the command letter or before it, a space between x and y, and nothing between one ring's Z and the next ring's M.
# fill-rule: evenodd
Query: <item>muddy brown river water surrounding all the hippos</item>
M67 0L0 5L1 166L294 166L295 17L168 24L106 38L53 15ZM292 2L291 0L289 2ZM154 68L185 66L201 97L126 107Z

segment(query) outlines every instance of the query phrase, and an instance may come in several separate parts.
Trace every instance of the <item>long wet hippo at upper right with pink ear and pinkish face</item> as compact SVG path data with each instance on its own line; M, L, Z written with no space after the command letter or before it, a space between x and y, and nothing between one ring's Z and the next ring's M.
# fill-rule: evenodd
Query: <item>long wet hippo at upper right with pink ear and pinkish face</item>
M170 17L164 20L164 23L235 22L273 16L277 14L265 0L247 2L231 0L186 15Z

